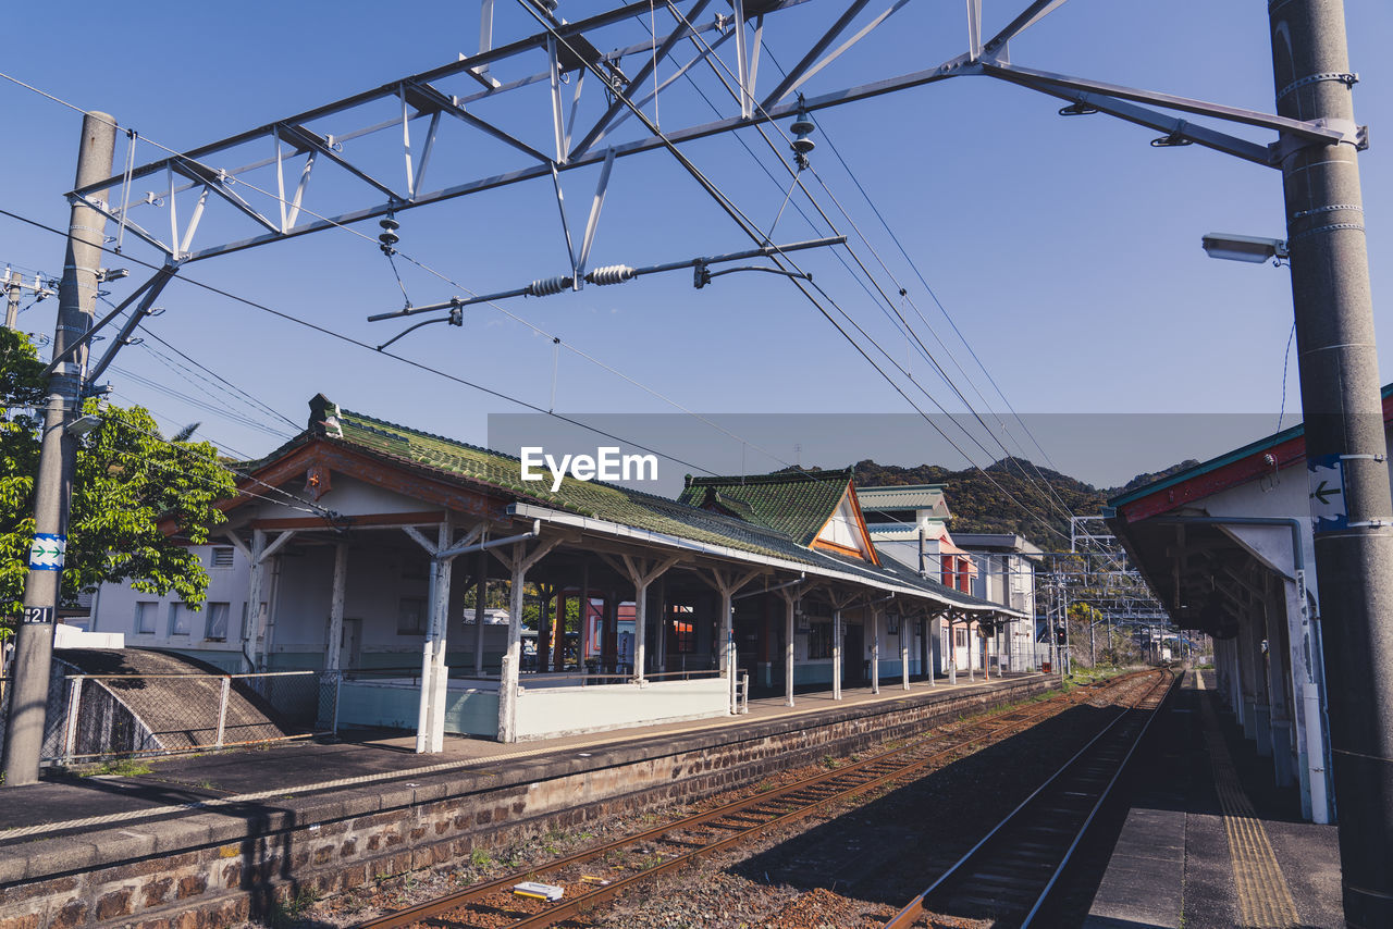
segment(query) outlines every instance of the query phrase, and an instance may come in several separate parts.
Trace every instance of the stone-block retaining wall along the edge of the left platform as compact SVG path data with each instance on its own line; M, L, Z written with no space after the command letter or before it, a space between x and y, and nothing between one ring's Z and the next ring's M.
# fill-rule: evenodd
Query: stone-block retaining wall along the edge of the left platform
M465 861L547 829L705 795L1043 692L1046 677L538 756L0 850L0 929L198 929L382 875ZM942 694L942 692L940 692ZM267 762L273 755L256 756Z

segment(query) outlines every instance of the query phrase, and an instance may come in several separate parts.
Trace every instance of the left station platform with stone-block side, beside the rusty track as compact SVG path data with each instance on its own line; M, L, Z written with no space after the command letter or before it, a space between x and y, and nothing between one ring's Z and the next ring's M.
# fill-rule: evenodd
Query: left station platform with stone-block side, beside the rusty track
M552 829L844 755L1056 687L1045 674L883 682L751 699L749 712L504 745L403 733L149 760L127 777L56 774L0 804L0 929L227 925L287 886L336 893Z

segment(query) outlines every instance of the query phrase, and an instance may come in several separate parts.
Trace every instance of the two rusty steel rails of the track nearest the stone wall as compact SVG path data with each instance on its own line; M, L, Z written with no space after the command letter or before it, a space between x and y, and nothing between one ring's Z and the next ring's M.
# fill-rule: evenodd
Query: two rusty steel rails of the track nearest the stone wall
M657 865L655 868L649 868L646 871L641 871L641 872L630 875L627 877L617 879L617 880L612 882L610 884L606 884L606 886L602 886L602 887L595 887L593 890L591 890L588 893L568 897L563 903L550 905L550 907L547 907L546 910L543 910L540 912L529 914L529 915L522 916L521 919L518 919L515 922L506 923L508 926L508 929L522 929L524 926L525 928L535 928L535 926L552 925L552 923L554 923L554 922L557 922L560 919L564 919L564 918L568 918L571 915L575 915L577 912L579 912L584 908L589 908L589 907L592 907L595 904L603 903L605 900L609 900L609 898L612 898L612 897L623 893L625 889L632 887L635 883L638 883L641 880L648 880L648 879L651 879L651 877L653 877L656 875L666 873L666 872L670 872L670 871L676 871L676 869L678 869L678 868L681 868L681 866L684 866L687 864L691 864L692 861L695 861L701 855L710 854L710 852L719 851L722 848L727 848L730 845L734 845L737 843L745 841L745 840L748 840L748 838L751 838L751 837L754 837L754 836L756 836L756 834L759 834L759 833L762 833L762 832L765 832L768 829L776 827L779 825L787 825L787 823L795 822L797 819L801 819L802 816L811 815L816 809L819 809L822 806L826 806L829 804L833 804L833 802L837 802L837 801L843 801L843 799L850 799L850 798L855 797L857 794L873 790L873 788L876 788L879 786L883 786L886 783L892 783L892 781L896 781L896 780L903 780L904 777L908 777L908 776L917 773L918 770L926 767L928 765L932 765L933 762L939 760L944 755L950 755L953 752L961 751L961 749L968 748L968 747L971 747L971 745L974 745L976 742L986 741L986 740L993 738L996 735L1014 734L1014 733L1022 731L1022 730L1028 728L1031 724L1034 724L1036 720L1039 720L1041 717L1053 715L1055 710L1059 709L1060 703L1064 703L1066 708L1077 705L1077 703L1082 702L1084 699L1087 699L1088 696L1091 696L1092 694L1095 694L1096 692L1095 688L1098 688L1098 687L1109 687L1109 685L1120 682L1121 680L1130 680L1131 677L1134 677L1134 676L1127 676L1124 678L1114 678L1113 681L1107 681L1107 682L1105 682L1102 685L1082 687L1082 688L1078 689L1077 694L1064 694L1064 695L1056 696L1056 698L1053 698L1053 699L1050 699L1050 701L1048 701L1045 703L1041 703L1038 706L1022 708L1022 709L1017 709L1017 710L1010 710L1007 713L1000 713L1000 715L996 715L996 716L992 716L992 717L988 717L988 719L976 719L976 720L964 721L960 726L957 726L954 728L950 728L946 733L939 733L936 735L932 735L932 737L928 737L925 740L917 741L917 742L914 742L911 745L904 745L901 748L896 748L896 749L890 749L887 752L882 752L879 755L862 759L861 762L857 762L857 763L850 765L847 767L840 767L840 769L836 769L836 770L832 770L832 772L825 772L825 773L820 773L820 774L815 774L812 777L800 780L797 783L787 784L786 787L781 787L781 788L779 788L776 791L770 791L770 793L765 793L765 794L758 794L758 795L747 797L747 798L744 798L741 801L736 801L733 804L722 805L722 806L719 806L716 809L706 811L703 813L696 813L696 815L687 816L684 819L680 819L680 820L676 820L676 822L671 822L671 823L656 826L653 829L645 830L642 833L637 833L634 836L625 836L623 838L617 838L617 840L606 843L603 845L596 845L593 848L588 848L585 851L579 851L579 852L575 852L573 855L566 855L563 858L557 858L557 859L546 862L545 865L540 865L538 868L532 868L532 869L521 871L521 872L514 872L511 875L504 875L501 877L496 877L493 880L488 880L488 882L475 884L472 887L465 887L465 889L458 890L458 891L456 891L453 894L447 894L447 896L439 897L436 900L429 900L429 901L425 901L422 904L417 904L414 907L408 907L405 910L400 910L397 912L387 914L384 916L379 916L376 919L371 919L368 922L358 923L358 926L355 929L398 929L401 926L410 926L410 925L417 923L419 921L429 919L429 918L433 918L433 916L442 916L443 914L449 914L450 911L460 910L460 908L467 907L467 905L469 905L472 903L483 900L483 898L489 897L490 894L506 891L510 887L513 887L514 884L517 884L518 882L522 882L522 880L535 880L539 875L553 873L553 872L557 872L557 871L563 871L564 868L567 868L570 865L578 865L578 864L584 864L584 862L588 862L588 861L593 861L595 858L602 858L602 857L605 857L605 855L607 855L610 852L614 852L614 851L621 851L621 850L632 847L632 845L641 845L641 844L646 844L646 843L651 843L651 841L656 841L656 840L659 840L663 836L667 836L670 833L680 833L680 832L684 832L684 830L690 830L690 829L694 829L694 827L710 823L712 820L717 820L717 819L727 818L727 816L736 816L736 815L740 815L740 813L749 815L752 812L752 809L756 808L756 806L768 806L768 805L773 805L773 804L779 804L779 802L798 802L800 804L795 809L773 815L773 818L770 818L770 819L766 819L766 820L755 823L755 825L752 825L749 827L741 829L740 832L733 833L733 834L730 834L730 836L727 836L724 838L720 838L716 843L705 844L701 848L694 848L694 850L683 852L680 855L674 855L669 861L664 861L664 862L662 862L660 865ZM869 780L857 781L857 783L851 784L850 787L846 787L843 790L837 790L836 793L825 794L825 795L820 795L820 797L815 797L811 801L797 801L797 799L794 799L791 797L793 794L798 794L798 793L802 793L802 791L808 791L808 790L814 790L814 788L818 788L818 787L823 787L829 781L846 780L848 776L855 776L858 773L866 772L868 769L873 769L876 766L883 766L885 763L892 762L896 758L901 758L904 755L911 755L914 752L922 752L925 748L937 747L944 740L949 740L949 738L951 738L954 735L964 734L964 733L971 734L972 730L978 730L978 728L982 728L982 727L988 727L986 731L978 733L975 735L971 735L970 738L965 738L963 741L954 742L951 745L940 747L940 748L937 748L936 751L933 751L928 756L915 758L910 763L900 765L900 766L897 766L894 770L892 770L889 773L873 774ZM754 812L754 815L761 815L761 813ZM496 919L497 915L495 914L493 918ZM465 925L465 923L461 922L461 923L456 923L456 925Z

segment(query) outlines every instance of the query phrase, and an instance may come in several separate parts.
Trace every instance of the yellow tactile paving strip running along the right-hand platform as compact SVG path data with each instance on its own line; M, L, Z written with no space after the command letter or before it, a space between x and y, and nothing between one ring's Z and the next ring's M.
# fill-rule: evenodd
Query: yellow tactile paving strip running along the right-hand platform
M1197 689L1204 688L1195 673ZM1268 841L1268 832L1256 818L1252 802L1238 781L1229 745L1219 734L1219 719L1211 701L1201 701L1205 742L1213 767L1215 790L1223 811L1233 883L1238 893L1238 916L1244 929L1289 929L1301 925L1295 900L1282 873L1282 865Z

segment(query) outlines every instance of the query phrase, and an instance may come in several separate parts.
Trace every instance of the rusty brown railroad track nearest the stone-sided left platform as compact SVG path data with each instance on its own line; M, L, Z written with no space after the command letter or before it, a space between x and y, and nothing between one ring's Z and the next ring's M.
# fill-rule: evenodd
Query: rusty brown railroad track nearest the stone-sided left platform
M1126 678L1100 687L1117 680ZM1082 687L1050 701L963 721L851 765L371 919L358 929L549 926L701 855L747 843L830 804L914 777L957 752L1000 741L1088 701L1098 689L1099 685ZM513 889L524 882L561 887L564 896L547 901L514 894Z

